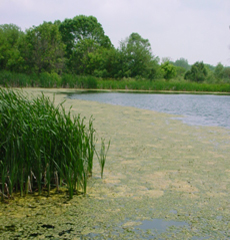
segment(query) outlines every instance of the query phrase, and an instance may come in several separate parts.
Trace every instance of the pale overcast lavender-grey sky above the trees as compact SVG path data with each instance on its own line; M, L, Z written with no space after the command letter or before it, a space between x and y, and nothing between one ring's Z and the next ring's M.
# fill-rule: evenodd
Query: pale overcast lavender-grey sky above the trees
M230 66L230 0L0 0L0 24L23 31L77 15L96 17L115 47L136 32L160 59Z

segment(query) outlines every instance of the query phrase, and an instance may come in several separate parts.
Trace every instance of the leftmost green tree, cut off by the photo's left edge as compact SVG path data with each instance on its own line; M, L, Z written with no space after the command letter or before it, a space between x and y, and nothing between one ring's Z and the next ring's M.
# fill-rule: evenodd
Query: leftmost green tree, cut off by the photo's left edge
M18 39L24 33L14 24L0 25L0 69L17 71L23 59L18 51Z

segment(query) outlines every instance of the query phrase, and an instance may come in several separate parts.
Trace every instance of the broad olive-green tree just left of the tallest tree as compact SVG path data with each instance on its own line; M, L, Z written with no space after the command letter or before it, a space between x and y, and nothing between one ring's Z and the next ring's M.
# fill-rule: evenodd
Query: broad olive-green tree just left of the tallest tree
M20 39L19 50L26 72L57 72L64 68L65 45L57 24L44 22L26 31Z

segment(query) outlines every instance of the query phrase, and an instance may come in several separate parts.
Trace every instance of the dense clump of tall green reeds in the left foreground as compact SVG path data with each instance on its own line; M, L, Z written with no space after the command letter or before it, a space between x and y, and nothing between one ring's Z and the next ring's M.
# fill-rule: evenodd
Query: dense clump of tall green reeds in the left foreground
M67 186L69 198L86 193L95 152L93 119L89 125L72 116L63 103L54 105L43 94L0 88L1 196L21 196Z

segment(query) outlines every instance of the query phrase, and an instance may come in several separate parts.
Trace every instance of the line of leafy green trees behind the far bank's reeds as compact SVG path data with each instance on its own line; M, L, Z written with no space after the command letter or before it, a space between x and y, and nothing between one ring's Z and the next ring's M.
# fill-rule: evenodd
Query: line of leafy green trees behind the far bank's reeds
M148 39L132 33L115 48L93 16L43 22L23 32L0 25L0 70L25 74L74 74L99 78L185 79L230 83L230 67L153 55Z

